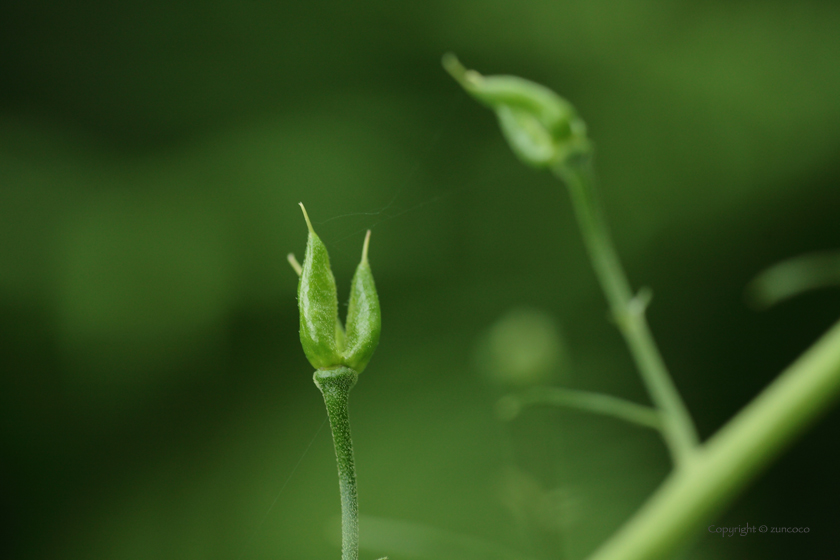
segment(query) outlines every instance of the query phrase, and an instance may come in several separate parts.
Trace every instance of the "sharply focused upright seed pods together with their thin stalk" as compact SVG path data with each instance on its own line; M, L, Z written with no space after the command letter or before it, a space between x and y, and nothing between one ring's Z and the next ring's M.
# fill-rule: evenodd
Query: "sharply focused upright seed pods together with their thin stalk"
M303 204L300 207L309 228L303 265L293 254L288 257L300 276L300 342L309 363L316 368L313 379L324 396L333 435L341 491L341 557L357 560L359 505L348 405L350 389L373 356L381 330L379 297L368 263L370 230L351 282L345 331L338 317L338 295L327 248L315 233L306 208Z

